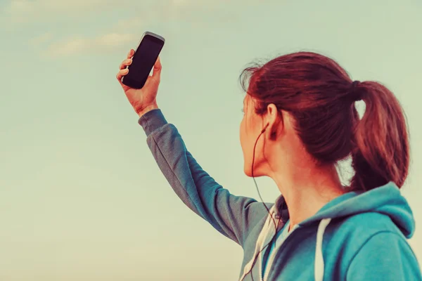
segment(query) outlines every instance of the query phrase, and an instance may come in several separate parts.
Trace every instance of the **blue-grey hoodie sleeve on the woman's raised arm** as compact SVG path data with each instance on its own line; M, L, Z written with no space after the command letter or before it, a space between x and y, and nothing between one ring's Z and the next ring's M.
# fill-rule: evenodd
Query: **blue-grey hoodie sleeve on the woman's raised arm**
M250 228L264 213L262 203L234 196L208 175L186 150L179 131L168 124L161 110L139 119L155 161L174 192L192 211L226 237L243 246Z

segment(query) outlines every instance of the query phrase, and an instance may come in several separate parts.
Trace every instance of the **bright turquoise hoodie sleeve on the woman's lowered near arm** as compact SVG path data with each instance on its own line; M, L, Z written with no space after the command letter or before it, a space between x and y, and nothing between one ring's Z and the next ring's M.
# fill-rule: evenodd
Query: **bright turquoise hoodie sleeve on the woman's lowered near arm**
M421 281L416 256L403 237L392 232L372 235L357 251L347 281Z

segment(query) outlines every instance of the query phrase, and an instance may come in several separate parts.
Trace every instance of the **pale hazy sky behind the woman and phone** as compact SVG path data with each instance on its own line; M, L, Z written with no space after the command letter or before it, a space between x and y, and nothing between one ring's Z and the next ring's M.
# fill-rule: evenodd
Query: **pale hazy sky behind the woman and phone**
M409 119L421 260L421 14L417 0L0 1L0 280L238 277L241 247L177 198L115 80L146 30L166 38L158 104L236 195L257 197L238 141L245 65L317 51L390 87Z

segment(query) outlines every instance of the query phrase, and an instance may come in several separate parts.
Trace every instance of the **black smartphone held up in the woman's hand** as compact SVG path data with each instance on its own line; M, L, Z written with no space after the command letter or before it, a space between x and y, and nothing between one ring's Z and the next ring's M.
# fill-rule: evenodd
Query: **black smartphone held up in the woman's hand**
M145 85L164 43L165 39L160 35L145 32L136 48L132 64L127 67L129 73L124 75L122 83L134 89L141 89Z

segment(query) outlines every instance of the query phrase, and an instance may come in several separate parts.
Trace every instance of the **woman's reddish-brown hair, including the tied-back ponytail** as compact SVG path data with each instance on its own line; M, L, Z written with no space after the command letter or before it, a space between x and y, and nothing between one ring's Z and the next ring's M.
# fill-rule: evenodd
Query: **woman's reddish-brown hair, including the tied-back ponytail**
M243 89L263 115L273 103L295 119L307 152L319 164L352 157L352 190L392 181L399 188L409 170L407 122L399 101L375 81L352 82L338 63L310 52L291 53L243 70ZM354 102L364 100L359 119Z

